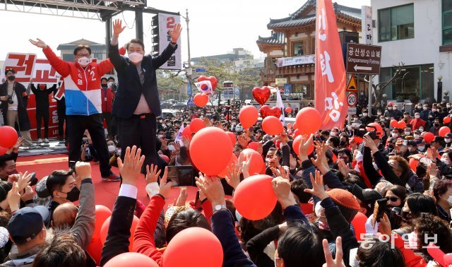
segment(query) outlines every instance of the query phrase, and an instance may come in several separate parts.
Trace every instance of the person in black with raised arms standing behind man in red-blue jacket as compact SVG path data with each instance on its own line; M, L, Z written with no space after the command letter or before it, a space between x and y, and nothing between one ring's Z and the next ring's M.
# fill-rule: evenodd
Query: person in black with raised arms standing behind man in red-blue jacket
M37 143L41 143L41 121L44 120L44 143L49 143L49 95L57 88L54 84L51 88L47 88L44 83L38 84L37 88L30 80L31 91L35 94L36 102L36 134Z

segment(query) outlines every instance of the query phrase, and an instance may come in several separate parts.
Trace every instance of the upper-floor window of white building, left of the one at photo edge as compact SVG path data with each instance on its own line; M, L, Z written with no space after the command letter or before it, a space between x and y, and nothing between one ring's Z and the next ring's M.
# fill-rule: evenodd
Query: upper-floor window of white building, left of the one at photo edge
M379 42L415 37L414 4L381 9L378 18Z

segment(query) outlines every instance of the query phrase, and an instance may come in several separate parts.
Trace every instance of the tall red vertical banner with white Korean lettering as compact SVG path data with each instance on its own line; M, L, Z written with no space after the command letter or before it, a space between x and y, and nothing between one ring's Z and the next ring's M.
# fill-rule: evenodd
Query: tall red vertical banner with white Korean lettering
M331 0L317 0L316 11L316 109L320 129L343 129L347 117L345 86L347 76L338 25Z

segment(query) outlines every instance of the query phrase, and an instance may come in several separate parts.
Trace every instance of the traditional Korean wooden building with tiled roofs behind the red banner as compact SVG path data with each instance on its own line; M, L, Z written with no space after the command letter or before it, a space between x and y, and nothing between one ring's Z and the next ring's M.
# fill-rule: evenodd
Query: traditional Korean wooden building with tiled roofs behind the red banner
M361 9L333 4L341 43L359 42ZM270 37L258 37L266 54L261 71L263 85L284 87L284 93L314 99L316 0L308 0L287 18L271 19ZM278 84L277 84L278 81Z

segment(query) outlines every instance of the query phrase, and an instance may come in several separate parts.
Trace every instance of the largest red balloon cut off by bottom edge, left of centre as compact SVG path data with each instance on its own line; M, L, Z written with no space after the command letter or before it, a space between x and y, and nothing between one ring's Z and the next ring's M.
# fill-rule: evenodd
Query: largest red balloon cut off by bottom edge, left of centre
M213 235L213 232L201 227L189 227L177 233L163 254L165 267L220 267L222 263L223 249L220 240Z

